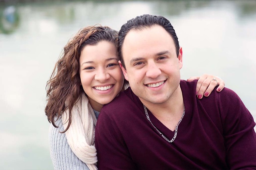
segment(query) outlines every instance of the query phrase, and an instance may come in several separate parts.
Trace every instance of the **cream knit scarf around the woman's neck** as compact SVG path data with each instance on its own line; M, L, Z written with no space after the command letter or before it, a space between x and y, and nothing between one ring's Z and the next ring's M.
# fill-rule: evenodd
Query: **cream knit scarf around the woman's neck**
M68 111L66 110L66 114L62 114L65 129L68 125ZM90 170L97 170L96 163L98 160L94 143L97 119L85 93L81 94L80 99L73 106L71 114L71 125L65 132L68 144L75 155L86 163Z

